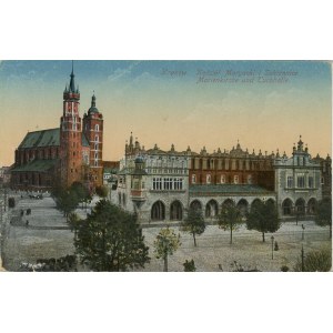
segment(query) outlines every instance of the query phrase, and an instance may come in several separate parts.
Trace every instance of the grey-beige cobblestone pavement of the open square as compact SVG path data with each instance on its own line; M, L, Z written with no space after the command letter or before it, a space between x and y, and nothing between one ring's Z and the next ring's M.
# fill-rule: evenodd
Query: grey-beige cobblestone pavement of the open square
M98 198L93 203L97 200ZM27 215L28 208L31 209L31 215ZM22 219L21 210L24 211ZM81 218L87 216L85 210L78 209L77 213ZM17 271L21 262L33 263L37 259L60 258L74 252L73 233L49 196L36 200L24 195L11 211L11 224L7 224L2 249L3 266L9 271ZM304 241L302 241L302 224L305 226ZM153 241L161 226L143 229L145 242L150 246L151 262L144 269L134 271L162 272L162 261L153 255ZM176 225L171 228L179 232ZM206 226L205 232L196 239L196 248L191 235L182 232L180 234L182 245L169 258L169 271L172 272L182 272L183 262L191 259L194 260L199 272L232 271L234 261L250 270L274 272L280 271L282 265L287 265L292 270L301 258L302 242L305 254L322 246L331 249L329 229L320 228L313 221L302 221L299 225L295 222L283 223L274 233L279 251L273 251L273 260L271 234L266 234L266 242L263 243L261 233L249 231L245 226L233 233L233 244L230 244L230 233L216 225Z

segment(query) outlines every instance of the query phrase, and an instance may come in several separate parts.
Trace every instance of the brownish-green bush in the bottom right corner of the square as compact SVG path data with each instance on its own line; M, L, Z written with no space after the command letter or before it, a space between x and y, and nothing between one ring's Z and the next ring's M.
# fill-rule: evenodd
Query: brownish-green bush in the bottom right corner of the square
M302 253L303 255L303 253ZM297 259L295 272L329 272L332 266L332 252L330 249L310 251L305 258Z

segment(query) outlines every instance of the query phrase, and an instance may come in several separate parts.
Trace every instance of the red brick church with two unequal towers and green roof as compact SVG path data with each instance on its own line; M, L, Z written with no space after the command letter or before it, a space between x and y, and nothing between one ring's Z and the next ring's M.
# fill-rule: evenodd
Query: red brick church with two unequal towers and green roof
M16 150L11 186L49 191L61 184L82 182L91 191L103 183L103 115L92 95L91 107L80 117L80 91L74 71L63 91L60 127L28 132Z

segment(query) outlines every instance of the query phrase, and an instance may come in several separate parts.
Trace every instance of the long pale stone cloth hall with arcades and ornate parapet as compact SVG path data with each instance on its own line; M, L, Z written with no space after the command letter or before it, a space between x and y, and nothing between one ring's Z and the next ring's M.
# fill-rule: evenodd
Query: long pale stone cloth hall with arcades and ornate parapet
M325 172L324 172L325 170ZM278 204L280 218L312 215L315 204L331 195L331 158L312 159L300 138L292 157L235 148L223 152L145 150L131 134L120 161L113 200L135 211L142 222L181 221L189 208L213 220L233 201L243 215L256 200Z

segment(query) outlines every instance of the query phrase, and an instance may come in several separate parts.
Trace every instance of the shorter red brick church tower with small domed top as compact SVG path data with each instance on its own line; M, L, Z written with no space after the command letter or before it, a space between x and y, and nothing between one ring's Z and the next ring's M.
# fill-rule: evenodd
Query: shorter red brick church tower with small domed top
M83 117L83 133L90 144L90 181L93 186L103 184L103 115L95 105L95 95L91 98L91 107Z

